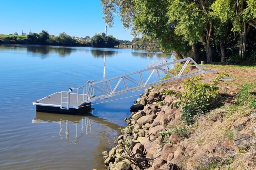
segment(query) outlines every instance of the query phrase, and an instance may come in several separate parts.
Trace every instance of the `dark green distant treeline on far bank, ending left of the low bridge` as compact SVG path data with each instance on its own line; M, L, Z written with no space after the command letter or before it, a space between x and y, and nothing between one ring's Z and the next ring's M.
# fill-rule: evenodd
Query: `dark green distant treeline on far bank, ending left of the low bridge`
M40 33L29 33L26 36L0 34L0 43L114 47L119 44L119 41L112 35L105 37L94 35L88 41L76 39L74 36L70 36L65 32L60 33L59 36L55 36L50 35L46 30L42 30Z

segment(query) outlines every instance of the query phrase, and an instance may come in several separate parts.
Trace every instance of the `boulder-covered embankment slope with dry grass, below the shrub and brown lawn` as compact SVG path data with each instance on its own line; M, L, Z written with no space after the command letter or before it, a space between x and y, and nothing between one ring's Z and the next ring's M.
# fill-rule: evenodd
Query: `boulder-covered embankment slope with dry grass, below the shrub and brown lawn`
M183 91L182 86L174 89ZM232 125L229 127L232 128L227 129L225 125L222 127L226 124L226 115L216 110L209 116L200 116L194 126L184 126L180 120L180 108L158 105L159 101L175 100L170 95L163 95L162 90L146 89L137 99L138 104L131 107L131 117L125 119L128 126L121 130L122 135L113 148L102 153L107 169L207 169L214 163L232 165L237 169L239 162L235 162L234 158L237 160L240 156L239 150L256 143L256 114L246 112L237 116L230 120ZM159 135L165 131L173 133L170 136ZM235 135L229 137L225 133ZM240 156L240 159L247 159L245 156ZM246 162L255 165L255 160L254 163L248 160L243 163Z

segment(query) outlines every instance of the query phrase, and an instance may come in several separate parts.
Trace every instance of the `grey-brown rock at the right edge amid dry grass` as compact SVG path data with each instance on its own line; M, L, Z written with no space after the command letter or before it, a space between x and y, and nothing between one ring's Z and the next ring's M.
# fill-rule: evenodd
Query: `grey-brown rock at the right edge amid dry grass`
M256 136L241 135L235 139L234 145L238 151L239 149L245 149L256 143Z

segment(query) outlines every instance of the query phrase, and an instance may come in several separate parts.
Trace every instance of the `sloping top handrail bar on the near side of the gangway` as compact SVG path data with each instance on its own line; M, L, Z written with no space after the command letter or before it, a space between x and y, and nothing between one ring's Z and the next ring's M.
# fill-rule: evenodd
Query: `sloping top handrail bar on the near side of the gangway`
M128 74L125 74L125 75L122 75L122 76L117 76L117 77L113 77L113 78L110 78L110 79L106 79L106 80L102 80L102 81L99 81L99 82L95 82L95 83L92 83L90 85L95 85L95 84L99 84L99 83L115 80L115 79L122 78L122 77L125 77L125 76L130 76L130 75L133 75L133 74L137 74L137 73L153 70L153 69L156 69L156 68L159 68L159 67L168 66L168 65L179 63L179 62L186 61L186 60L192 60L193 63L195 63L195 61L191 57L187 57L187 58L183 58L183 59L180 59L180 60L172 61L170 63L161 64L161 65L150 67L150 68L147 68L147 69L144 69L144 70L139 70L139 71L128 73ZM198 67L197 64L196 64L196 66Z

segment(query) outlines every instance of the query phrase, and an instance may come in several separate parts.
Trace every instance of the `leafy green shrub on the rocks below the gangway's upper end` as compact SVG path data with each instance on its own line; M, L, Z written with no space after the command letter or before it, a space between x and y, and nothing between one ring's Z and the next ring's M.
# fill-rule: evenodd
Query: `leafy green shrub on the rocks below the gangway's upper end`
M178 99L172 103L172 107L181 107L181 120L191 125L195 122L195 117L208 111L216 103L219 97L218 83L225 73L220 74L212 83L202 83L202 76L191 76L182 85L184 92L174 94Z

